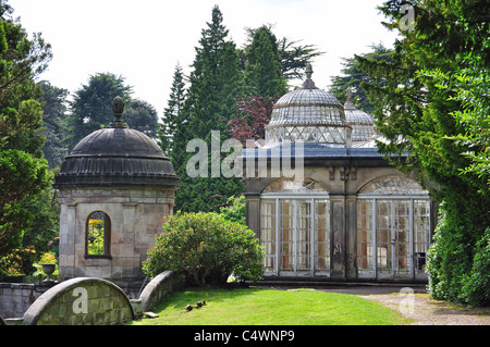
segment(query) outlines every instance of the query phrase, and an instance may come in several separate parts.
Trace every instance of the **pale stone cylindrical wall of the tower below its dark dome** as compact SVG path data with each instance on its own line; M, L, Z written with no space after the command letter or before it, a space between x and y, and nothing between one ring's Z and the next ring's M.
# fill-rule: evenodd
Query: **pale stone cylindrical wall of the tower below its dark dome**
M144 280L142 262L172 213L173 189L73 188L60 190L60 281L98 277ZM87 219L95 211L110 218L110 253L86 253Z

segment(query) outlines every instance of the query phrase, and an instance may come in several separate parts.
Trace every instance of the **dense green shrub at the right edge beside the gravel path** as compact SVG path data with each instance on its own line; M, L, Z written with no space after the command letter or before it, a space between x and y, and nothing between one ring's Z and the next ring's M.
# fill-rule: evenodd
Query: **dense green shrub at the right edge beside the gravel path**
M478 212L478 207L466 200L457 206L466 210L456 213L456 203L449 202L446 199L440 206L428 253L430 295L438 300L490 306L490 228L485 225L486 215L480 214L481 225L468 222L469 209Z

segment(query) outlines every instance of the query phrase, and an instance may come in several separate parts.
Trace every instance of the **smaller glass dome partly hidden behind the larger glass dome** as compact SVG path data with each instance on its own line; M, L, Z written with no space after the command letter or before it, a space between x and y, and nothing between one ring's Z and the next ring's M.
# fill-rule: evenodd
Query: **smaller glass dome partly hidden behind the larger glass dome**
M352 89L347 88L347 101L344 104L344 113L347 124L352 126L353 141L368 141L377 135L375 122L370 114L357 110L352 102Z

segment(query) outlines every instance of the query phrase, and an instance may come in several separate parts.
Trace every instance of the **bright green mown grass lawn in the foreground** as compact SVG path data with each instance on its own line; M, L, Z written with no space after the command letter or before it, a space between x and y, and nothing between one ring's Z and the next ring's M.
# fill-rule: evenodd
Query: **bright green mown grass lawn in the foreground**
M206 306L186 311L187 305ZM174 292L152 310L157 319L134 325L396 325L400 313L346 294L261 288L192 288Z

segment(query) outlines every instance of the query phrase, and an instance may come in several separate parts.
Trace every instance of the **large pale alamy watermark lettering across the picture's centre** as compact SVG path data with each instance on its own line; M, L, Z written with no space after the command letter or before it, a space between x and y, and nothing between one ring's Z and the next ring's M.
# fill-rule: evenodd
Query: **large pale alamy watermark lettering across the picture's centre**
M304 175L302 141L282 141L281 146L265 148L257 141L247 139L245 148L248 151L244 158L244 146L234 138L221 144L219 131L211 132L210 146L204 139L192 139L187 142L186 151L195 154L186 163L186 173L191 178L243 177L244 171L248 178L297 178Z

